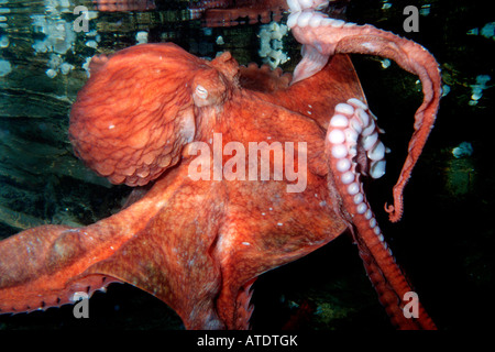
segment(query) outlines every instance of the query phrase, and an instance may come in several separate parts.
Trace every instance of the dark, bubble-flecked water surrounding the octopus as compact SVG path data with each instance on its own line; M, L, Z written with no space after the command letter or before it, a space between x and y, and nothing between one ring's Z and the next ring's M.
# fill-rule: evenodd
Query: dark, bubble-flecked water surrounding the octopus
M153 1L150 1L153 2ZM102 11L92 1L0 0L0 239L43 223L89 224L117 212L130 193L98 177L73 154L68 114L88 79L88 63L140 43L174 42L215 58L230 51L240 64L268 63L292 72L300 45L286 32L287 14L268 24L208 28L191 20L189 1L154 9ZM419 31L405 32L403 10L420 9ZM77 31L76 7L89 10ZM492 251L495 166L493 121L495 16L483 1L351 1L346 18L411 38L440 64L444 97L436 128L405 191L405 215L389 223L392 199L420 84L395 64L353 55L371 110L386 131L387 174L367 195L387 242L440 329L487 329L494 312ZM253 328L279 329L299 307L310 330L391 330L349 235L254 285ZM302 318L301 318L302 319ZM129 285L91 298L91 316L72 307L0 316L0 329L182 329L156 298Z

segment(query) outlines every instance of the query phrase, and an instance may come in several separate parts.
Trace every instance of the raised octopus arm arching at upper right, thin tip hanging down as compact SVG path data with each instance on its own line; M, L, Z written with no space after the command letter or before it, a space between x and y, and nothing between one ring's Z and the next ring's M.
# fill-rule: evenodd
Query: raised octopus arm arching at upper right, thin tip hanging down
M307 1L299 1L307 2ZM310 1L311 2L311 1ZM433 127L441 97L441 77L433 56L421 45L372 25L358 25L329 19L309 8L293 10L287 24L294 36L304 44L304 58L295 70L293 84L319 72L334 54L369 54L394 59L405 70L419 77L424 101L415 113L415 132L408 146L397 184L394 186L394 205L386 207L391 221L403 213L403 191L422 147Z

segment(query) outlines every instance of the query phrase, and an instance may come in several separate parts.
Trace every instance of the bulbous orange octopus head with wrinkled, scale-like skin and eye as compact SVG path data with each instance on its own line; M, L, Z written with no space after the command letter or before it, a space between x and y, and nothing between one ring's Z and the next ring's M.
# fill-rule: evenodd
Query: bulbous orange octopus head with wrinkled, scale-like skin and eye
M94 57L90 69L70 111L75 153L111 183L141 186L179 162L197 113L229 98L239 67L229 53L207 62L163 43Z

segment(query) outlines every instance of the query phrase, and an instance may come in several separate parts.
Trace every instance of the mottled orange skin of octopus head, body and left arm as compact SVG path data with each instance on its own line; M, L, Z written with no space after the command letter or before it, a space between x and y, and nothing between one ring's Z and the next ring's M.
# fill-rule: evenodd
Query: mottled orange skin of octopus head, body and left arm
M349 227L323 152L328 112L364 100L346 56L290 88L282 77L270 92L242 87L229 53L207 62L174 44L134 46L96 59L92 70L72 111L77 155L114 183L154 185L92 226L41 227L2 241L1 312L66 304L118 280L164 300L187 328L246 328L258 275ZM198 85L206 100L195 97ZM318 94L308 97L310 89ZM287 193L287 180L191 180L186 146L211 143L213 132L223 144L307 142L306 190Z

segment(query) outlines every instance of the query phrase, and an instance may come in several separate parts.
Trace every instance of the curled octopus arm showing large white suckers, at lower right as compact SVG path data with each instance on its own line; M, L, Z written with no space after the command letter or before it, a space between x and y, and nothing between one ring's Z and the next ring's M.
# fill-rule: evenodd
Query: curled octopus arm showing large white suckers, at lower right
M362 165L369 165L370 175L375 178L384 174L385 166L385 147L365 103L349 99L336 107L327 132L326 152L333 175L329 182L342 197L348 221L358 230L354 239L360 256L392 322L400 329L435 329L420 305L417 319L405 317L404 297L413 288L396 264L363 190Z

